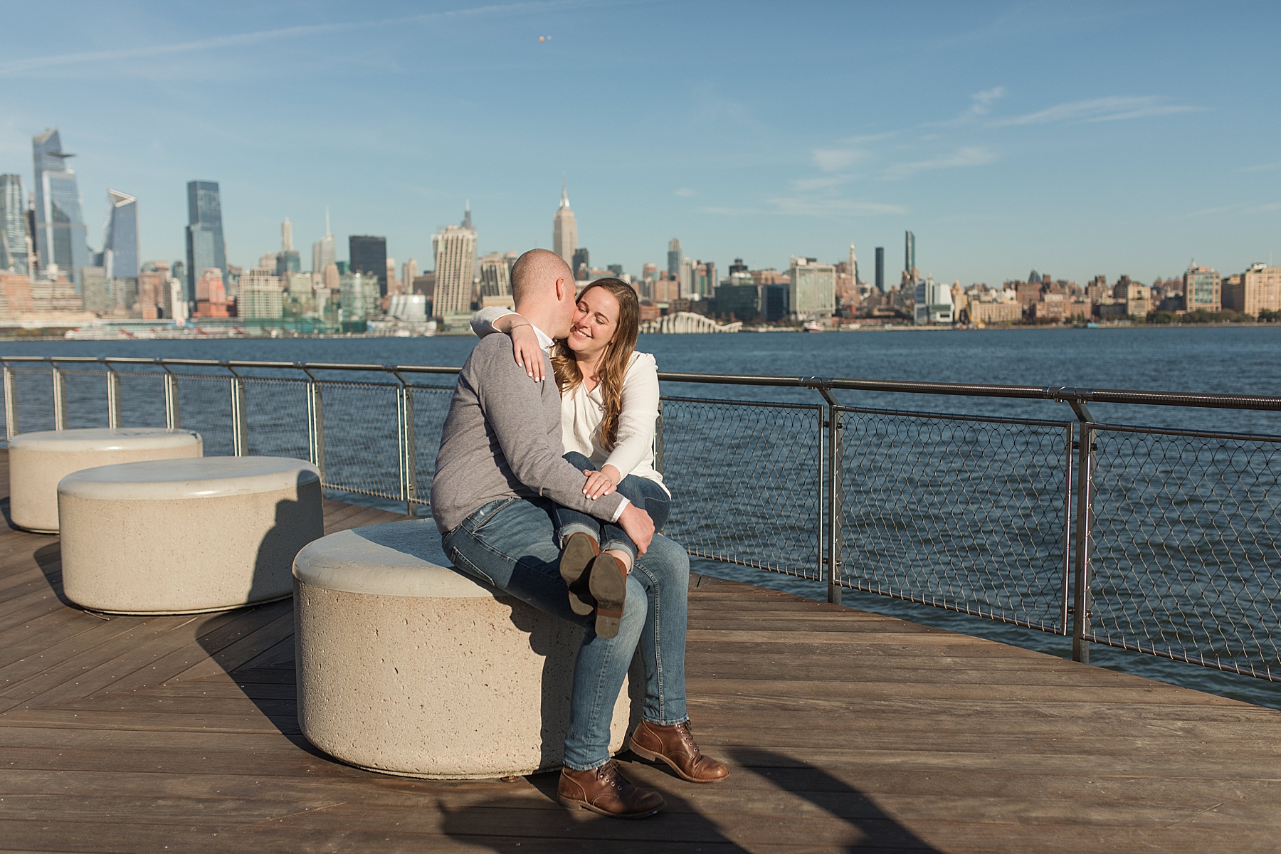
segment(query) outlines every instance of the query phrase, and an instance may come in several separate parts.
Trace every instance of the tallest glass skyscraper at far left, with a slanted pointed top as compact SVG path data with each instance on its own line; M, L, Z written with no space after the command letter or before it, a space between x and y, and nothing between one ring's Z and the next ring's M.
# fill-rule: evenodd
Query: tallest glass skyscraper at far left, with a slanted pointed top
M67 168L73 154L63 151L58 128L31 138L36 161L36 246L40 264L56 264L79 293L79 269L88 266L88 229L79 209L76 173Z

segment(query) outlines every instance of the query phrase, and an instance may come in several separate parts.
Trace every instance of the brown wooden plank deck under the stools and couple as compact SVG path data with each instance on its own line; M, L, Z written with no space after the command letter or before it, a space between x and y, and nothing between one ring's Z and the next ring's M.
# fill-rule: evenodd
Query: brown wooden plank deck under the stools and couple
M1278 712L743 584L690 588L690 714L733 778L624 754L669 808L620 822L559 807L555 775L320 754L290 603L106 618L59 577L56 536L0 528L0 850L1281 850Z

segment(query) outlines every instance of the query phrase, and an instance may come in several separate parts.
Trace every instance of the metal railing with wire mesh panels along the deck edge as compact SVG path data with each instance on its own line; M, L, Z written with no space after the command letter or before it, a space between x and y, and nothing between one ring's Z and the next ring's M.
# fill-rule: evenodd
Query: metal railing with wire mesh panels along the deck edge
M428 504L457 367L4 357L5 430L191 428L327 489ZM1281 411L1281 397L660 373L811 389L662 398L666 533L690 554L1281 681L1281 435L1097 421L1093 403ZM1066 403L1071 419L842 403L835 392ZM803 393L803 392L802 392Z

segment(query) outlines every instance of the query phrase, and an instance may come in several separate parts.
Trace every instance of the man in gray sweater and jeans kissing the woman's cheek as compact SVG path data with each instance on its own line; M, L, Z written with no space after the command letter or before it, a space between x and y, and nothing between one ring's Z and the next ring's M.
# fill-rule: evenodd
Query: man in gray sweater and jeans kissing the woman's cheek
M511 286L516 311L533 325L547 359L552 339L566 337L575 321L573 274L553 252L530 250L512 266ZM587 478L562 458L560 391L550 360L544 369L547 379L533 382L506 335L487 335L475 346L441 434L432 513L455 567L585 630L574 665L560 802L620 818L652 816L664 807L662 795L633 786L610 758L614 704L638 647L646 698L633 750L692 782L729 776L699 753L685 713L689 557L617 493L594 501L584 494ZM594 617L570 608L552 502L615 521L637 544L615 638L597 635Z

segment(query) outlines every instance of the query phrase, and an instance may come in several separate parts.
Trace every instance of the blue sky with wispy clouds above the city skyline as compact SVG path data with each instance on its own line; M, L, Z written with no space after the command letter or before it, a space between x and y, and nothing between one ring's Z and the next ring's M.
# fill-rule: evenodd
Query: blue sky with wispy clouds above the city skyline
M347 234L430 268L471 201L482 251L550 246L561 174L597 265L790 255L871 278L903 232L935 278L1085 282L1281 256L1275 3L6 4L0 172L78 156L145 259L222 184L229 260ZM539 36L550 40L538 41Z

